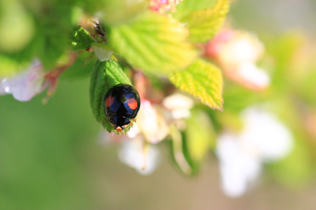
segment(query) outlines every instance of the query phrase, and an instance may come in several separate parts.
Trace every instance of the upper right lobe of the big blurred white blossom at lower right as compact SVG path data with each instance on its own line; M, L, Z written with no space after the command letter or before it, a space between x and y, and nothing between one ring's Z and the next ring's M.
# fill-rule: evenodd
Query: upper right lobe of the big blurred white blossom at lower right
M293 149L290 130L276 116L259 108L247 108L241 114L245 123L240 133L244 148L258 151L264 161L278 161Z

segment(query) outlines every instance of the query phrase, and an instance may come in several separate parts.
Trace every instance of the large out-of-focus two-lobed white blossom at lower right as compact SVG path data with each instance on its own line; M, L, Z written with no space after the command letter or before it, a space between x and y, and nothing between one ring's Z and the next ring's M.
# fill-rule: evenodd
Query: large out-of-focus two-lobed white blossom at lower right
M243 195L260 175L263 163L279 161L293 149L293 135L276 116L260 108L247 108L239 134L218 137L222 189L230 197Z

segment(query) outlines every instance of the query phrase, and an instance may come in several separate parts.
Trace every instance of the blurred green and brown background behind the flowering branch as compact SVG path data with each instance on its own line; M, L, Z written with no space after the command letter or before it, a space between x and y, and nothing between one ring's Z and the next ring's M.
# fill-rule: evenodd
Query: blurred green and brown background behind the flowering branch
M313 0L238 0L229 20L236 28L257 33L268 50L275 39L294 30L314 51L315 11ZM91 113L88 86L88 78L60 80L45 106L41 103L45 94L30 102L18 102L11 95L0 97L0 209L290 210L316 206L315 179L293 189L266 172L251 193L230 199L220 190L214 154L208 154L200 174L185 177L174 167L165 142L159 144L163 159L157 170L150 176L138 174L118 160L115 145L98 143L102 128ZM306 94L314 90L308 85L304 88ZM311 106L315 95L311 91L306 96Z

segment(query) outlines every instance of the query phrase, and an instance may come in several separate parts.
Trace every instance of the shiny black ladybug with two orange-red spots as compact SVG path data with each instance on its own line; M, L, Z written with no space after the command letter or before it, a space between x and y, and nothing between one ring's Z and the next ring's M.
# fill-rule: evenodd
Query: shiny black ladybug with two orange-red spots
M106 120L109 119L109 123L114 126L115 131L122 132L124 128L131 125L131 120L137 116L140 97L137 90L131 85L114 85L106 92L103 107Z

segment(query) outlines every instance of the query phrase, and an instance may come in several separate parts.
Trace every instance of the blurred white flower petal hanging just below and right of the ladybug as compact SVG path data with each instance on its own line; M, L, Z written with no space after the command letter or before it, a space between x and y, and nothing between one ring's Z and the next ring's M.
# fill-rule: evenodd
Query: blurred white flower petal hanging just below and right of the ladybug
M147 151L145 151L143 144L144 141L139 138L122 142L119 160L135 168L138 173L149 175L158 166L160 153L155 145L148 145Z

